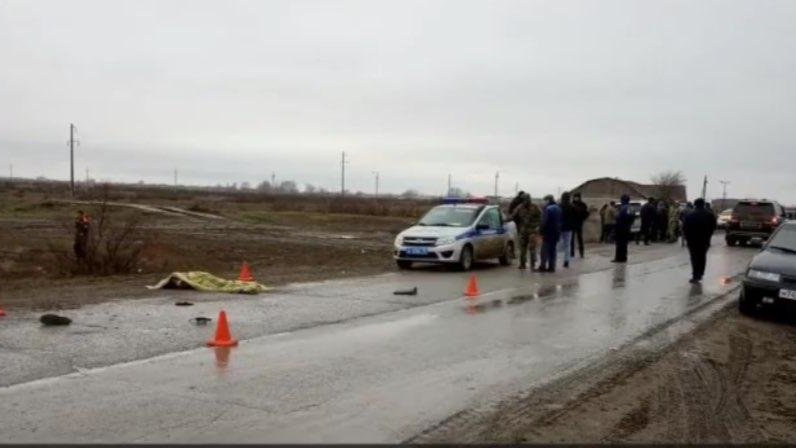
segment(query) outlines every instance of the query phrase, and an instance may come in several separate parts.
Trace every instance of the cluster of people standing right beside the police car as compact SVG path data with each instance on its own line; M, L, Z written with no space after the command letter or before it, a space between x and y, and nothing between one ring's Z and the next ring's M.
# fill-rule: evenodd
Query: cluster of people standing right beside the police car
M508 215L517 225L520 269L528 269L529 253L530 269L538 272L555 272L559 250L564 252L565 268L575 257L576 248L580 257L584 257L583 224L589 217L589 208L579 193L565 192L559 202L547 195L540 209L531 201L530 194L521 191L509 205ZM539 239L542 247L537 267Z

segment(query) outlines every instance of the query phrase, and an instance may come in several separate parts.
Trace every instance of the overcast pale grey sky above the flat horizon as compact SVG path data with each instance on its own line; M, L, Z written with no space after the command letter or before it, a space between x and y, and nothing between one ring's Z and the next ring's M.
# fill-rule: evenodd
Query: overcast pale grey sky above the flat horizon
M0 0L0 163L535 196L682 170L796 204L796 1Z

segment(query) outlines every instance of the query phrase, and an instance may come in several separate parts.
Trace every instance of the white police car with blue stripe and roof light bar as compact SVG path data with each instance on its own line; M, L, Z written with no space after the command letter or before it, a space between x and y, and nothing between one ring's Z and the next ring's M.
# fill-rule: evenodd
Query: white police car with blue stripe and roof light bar
M395 238L393 256L398 267L415 262L458 265L469 270L474 261L514 260L517 228L497 205L486 199L448 199Z

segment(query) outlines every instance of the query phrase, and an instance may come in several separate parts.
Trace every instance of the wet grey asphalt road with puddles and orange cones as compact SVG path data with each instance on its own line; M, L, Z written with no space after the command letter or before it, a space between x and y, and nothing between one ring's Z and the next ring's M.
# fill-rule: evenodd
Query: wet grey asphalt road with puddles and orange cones
M398 442L701 307L754 253L717 239L701 286L684 249L659 245L631 247L626 266L603 248L556 275L483 267L476 300L461 297L466 274L424 269L262 297L170 292L64 313L67 328L15 317L0 323L0 438ZM213 328L188 319L220 308L241 345L197 348Z

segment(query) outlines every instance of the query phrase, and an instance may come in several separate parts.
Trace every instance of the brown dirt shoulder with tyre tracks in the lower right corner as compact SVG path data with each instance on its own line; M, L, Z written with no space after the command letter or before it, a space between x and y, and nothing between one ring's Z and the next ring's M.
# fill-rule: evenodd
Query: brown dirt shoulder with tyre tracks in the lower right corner
M663 353L574 374L469 420L422 441L796 443L796 324L726 309Z

